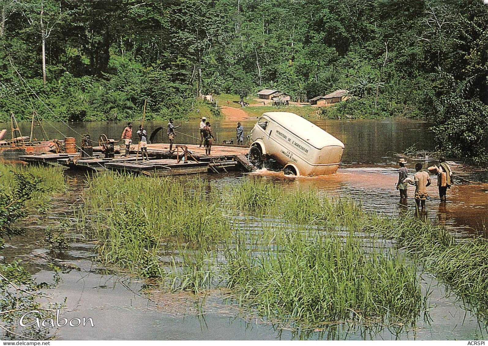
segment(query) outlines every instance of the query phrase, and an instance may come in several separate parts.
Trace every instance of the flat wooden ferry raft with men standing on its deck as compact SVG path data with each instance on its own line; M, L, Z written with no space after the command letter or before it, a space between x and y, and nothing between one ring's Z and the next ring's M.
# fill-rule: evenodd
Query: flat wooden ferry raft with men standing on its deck
M205 155L205 149L198 145L174 144L173 148L175 150L171 153L169 144L148 144L147 152L151 156L149 160L142 160L141 154L136 156L137 146L131 146L131 156L129 157L123 157L120 154L114 154L113 157L94 154L93 158L72 156L60 158L57 162L70 168L125 171L145 175L225 173L227 170L236 169L246 172L254 170L254 166L246 156L247 147L215 145L212 146L211 155Z

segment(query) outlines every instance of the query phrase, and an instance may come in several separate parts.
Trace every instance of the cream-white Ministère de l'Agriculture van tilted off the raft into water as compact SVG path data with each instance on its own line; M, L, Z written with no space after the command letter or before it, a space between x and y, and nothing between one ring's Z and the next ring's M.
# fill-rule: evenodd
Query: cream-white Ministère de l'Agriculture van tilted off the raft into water
M267 112L250 135L249 159L262 167L272 158L285 174L302 176L332 174L339 168L344 144L305 120L288 112Z

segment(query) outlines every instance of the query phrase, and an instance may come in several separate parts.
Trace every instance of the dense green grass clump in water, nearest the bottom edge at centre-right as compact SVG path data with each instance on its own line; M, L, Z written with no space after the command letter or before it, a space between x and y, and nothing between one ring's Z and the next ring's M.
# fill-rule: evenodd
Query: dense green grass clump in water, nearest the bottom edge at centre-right
M358 317L413 323L426 309L415 264L396 251L366 251L353 233L270 231L274 236L260 240L259 250L246 249L249 235L242 232L226 247L227 286L248 308L312 326Z

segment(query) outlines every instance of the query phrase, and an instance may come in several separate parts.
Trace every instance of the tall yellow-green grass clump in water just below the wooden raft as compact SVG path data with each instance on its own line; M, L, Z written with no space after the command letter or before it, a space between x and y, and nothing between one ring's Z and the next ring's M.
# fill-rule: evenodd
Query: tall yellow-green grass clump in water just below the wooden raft
M159 258L174 239L201 242L228 234L230 220L201 179L185 182L103 173L86 191L81 223L100 240L100 259L143 277L164 277ZM170 247L169 252L174 250Z

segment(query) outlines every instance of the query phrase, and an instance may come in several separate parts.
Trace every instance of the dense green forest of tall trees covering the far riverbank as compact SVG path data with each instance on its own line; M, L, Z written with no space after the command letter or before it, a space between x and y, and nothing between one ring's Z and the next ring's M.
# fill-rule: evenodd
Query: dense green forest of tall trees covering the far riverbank
M425 116L486 159L482 0L1 0L0 120L186 117L195 97L355 97L325 116ZM214 107L215 108L215 107ZM330 114L327 114L330 113Z

